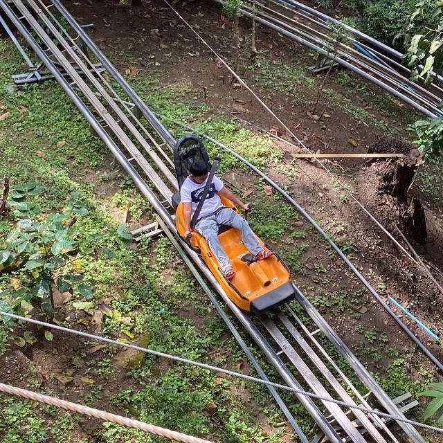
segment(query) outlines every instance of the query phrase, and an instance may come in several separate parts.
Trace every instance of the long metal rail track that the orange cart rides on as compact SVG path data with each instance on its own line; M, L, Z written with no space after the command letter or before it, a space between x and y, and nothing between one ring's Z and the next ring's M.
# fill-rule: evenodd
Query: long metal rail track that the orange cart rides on
M177 235L171 207L172 195L178 189L170 160L174 138L136 96L59 0L53 0L51 6L57 10L54 14L61 15L69 23L69 31L60 26L52 13L53 9L48 9L41 0L12 0L11 3L19 15L6 0L0 0L0 7L116 156L122 168L134 179L136 186L159 214L163 228L169 235ZM22 21L26 22L26 26ZM28 28L44 42L47 51L36 42ZM82 45L78 44L78 40ZM86 46L88 52L82 46ZM89 56L89 51L93 56ZM95 62L106 67L114 78L114 84L125 91L124 97L116 93L116 87L94 68ZM180 239L176 242L183 248ZM275 320L271 316L264 316L257 322L230 301L196 253L188 251L188 255L289 386L311 390L330 398L338 395L350 404L363 404L371 408L366 397L350 382L350 376L345 375L327 353L325 347L334 346L349 363L347 370L352 377L360 379L378 404L391 415L404 418L395 402L374 381L295 285L298 304L307 320L300 320L295 311L287 306L278 311ZM307 365L307 361L311 364ZM280 398L278 395L274 397L277 400ZM318 426L318 442L399 442L399 437L393 435L387 424L375 415L346 410L327 401L314 401L304 395L297 397ZM286 408L282 401L279 404L283 409ZM284 412L300 440L308 442L289 410L286 408ZM397 424L413 442L424 442L413 426L404 422Z

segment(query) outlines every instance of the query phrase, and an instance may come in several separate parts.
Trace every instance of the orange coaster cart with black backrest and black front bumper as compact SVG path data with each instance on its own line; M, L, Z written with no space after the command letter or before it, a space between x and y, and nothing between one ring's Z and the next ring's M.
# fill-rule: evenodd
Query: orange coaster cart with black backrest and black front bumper
M210 165L206 149L199 138L193 135L180 138L174 147L174 165L179 187L190 174L190 165L197 159L203 159ZM237 208L228 199L221 197L221 202L238 213ZM172 204L176 211L177 231L184 239L183 204L180 202L179 192L174 195ZM259 237L257 239L263 248L270 249ZM220 226L219 240L235 270L235 277L232 280L225 278L202 235L194 231L192 238L186 239L186 242L190 248L199 253L235 305L254 314L264 314L293 298L294 291L289 269L278 254L266 260L255 260L244 246L239 230L230 226Z

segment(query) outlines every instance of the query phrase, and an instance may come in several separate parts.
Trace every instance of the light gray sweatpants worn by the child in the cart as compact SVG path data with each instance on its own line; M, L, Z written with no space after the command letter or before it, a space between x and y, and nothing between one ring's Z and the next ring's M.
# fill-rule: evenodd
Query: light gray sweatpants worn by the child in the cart
M195 229L206 238L210 250L213 251L223 271L226 269L226 266L230 265L230 261L219 241L218 232L221 224L238 229L242 234L244 246L248 248L251 254L257 255L262 251L262 246L255 237L253 230L249 227L248 222L241 215L237 214L235 210L224 208L210 217L201 219L195 225Z

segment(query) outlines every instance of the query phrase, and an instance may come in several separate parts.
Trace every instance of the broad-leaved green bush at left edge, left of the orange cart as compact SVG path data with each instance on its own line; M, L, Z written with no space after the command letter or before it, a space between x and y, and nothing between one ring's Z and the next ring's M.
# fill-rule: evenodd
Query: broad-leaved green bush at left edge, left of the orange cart
M10 195L14 214L20 217L36 216L39 208L28 195L43 190L35 183L17 186ZM10 274L12 290L0 293L2 309L26 314L34 308L53 318L53 285L60 292L73 293L72 284L78 284L78 292L91 297L91 287L82 282L83 275L66 270L66 264L75 261L82 253L93 252L89 248L100 235L82 235L75 227L79 215L89 210L79 200L80 192L72 192L62 213L49 213L35 219L21 218L6 242L0 246L0 274Z

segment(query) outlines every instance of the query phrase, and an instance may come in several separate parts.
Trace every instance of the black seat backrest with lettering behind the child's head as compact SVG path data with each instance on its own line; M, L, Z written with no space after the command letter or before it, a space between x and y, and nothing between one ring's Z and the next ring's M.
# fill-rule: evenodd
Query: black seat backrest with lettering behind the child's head
M210 168L208 153L199 137L187 134L181 137L174 146L174 166L179 188L190 174L190 165L196 160L206 161Z

